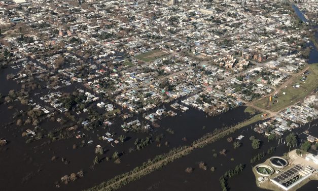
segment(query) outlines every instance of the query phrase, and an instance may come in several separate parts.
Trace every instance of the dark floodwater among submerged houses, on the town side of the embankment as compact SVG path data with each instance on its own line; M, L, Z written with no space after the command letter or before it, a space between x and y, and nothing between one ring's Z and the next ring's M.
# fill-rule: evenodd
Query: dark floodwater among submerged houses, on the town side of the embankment
M6 75L12 72L11 68L0 71L1 80L5 80ZM10 87L3 88L2 91L4 94L7 94L10 89L18 90L19 88L20 85L13 82ZM76 87L71 85L63 88L61 91L72 92L74 89ZM44 95L48 91L48 89L37 89L32 90L29 94L33 101L39 103L41 106L47 106L40 100L40 96L34 95L34 93L41 92L41 95ZM13 109L8 109L8 106L13 106ZM165 105L165 107L167 110L170 109L169 105ZM137 166L141 166L149 158L168 152L173 147L190 145L192 141L208 132L213 132L215 128L234 125L251 117L250 114L243 112L244 107L232 109L215 117L208 117L201 111L189 109L189 111L184 113L176 111L178 113L177 116L165 117L157 121L160 124L160 128L154 128L154 131L150 132L150 134L124 133L120 128L123 121L116 119L115 124L107 129L97 128L94 131L88 132L80 128L78 131L83 131L87 135L82 139L76 139L76 134L74 134L74 138L70 139L49 142L48 138L44 138L26 144L26 138L21 135L26 129L33 129L34 127L31 124L17 126L16 118L13 118L13 116L18 116L25 120L27 116L19 116L18 113L26 109L27 106L22 106L17 101L0 105L0 119L2 120L0 138L6 138L9 141L7 146L0 148L0 168L2 169L2 173L0 174L0 190L43 190L44 187L46 190L56 190L55 182L59 181L62 176L70 175L80 170L84 170L83 178L79 178L67 185L60 183L58 190L82 190L89 188L116 175L130 171ZM87 115L82 114L78 117L87 118ZM62 114L57 114L55 117L61 116ZM137 115L128 119L127 122L135 118L143 121L142 116ZM47 134L50 131L54 132L61 125L57 121L45 119L39 126L44 129L44 134ZM172 129L174 134L167 133L165 131L167 128ZM127 141L119 144L113 143L113 147L106 141L98 140L98 137L104 135L106 132L116 133L115 138L119 137L119 135L125 135ZM161 147L157 147L157 143L153 142L150 146L140 151L129 153L129 148L134 147L136 138L145 139L146 136L151 136L154 140L160 134L164 136L160 142ZM184 137L186 137L187 141L182 140ZM86 142L93 140L93 143L73 149L73 144L79 146L82 140ZM166 141L169 143L168 146L164 145ZM98 144L105 148L106 152L103 155L99 155L102 162L94 167L92 166L96 155L94 150ZM106 156L111 157L115 151L124 153L120 156L121 164L115 164L114 160L105 160ZM57 157L56 161L51 161L52 156ZM62 163L62 157L66 158L69 164Z

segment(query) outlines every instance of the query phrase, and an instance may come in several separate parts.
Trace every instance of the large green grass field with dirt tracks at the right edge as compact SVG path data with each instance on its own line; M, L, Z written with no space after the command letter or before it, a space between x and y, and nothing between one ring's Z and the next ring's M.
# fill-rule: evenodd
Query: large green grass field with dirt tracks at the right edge
M263 109L279 111L304 99L311 91L318 87L318 63L311 64L308 71L310 74L307 75L307 79L304 82L300 81L303 75L299 76L286 88L280 89L277 98L273 98L273 101L270 102L269 98L263 98L256 101L255 105ZM300 85L300 87L294 88L293 85L295 84ZM273 104L275 100L278 103Z

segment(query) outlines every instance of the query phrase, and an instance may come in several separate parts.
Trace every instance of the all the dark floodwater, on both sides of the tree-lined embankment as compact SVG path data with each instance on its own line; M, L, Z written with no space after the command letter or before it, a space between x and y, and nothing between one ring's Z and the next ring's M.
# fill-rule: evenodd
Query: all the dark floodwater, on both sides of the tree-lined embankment
M316 53L311 53L309 63L318 62ZM6 76L10 73L17 73L19 69L7 68L0 71L0 81L5 85L0 86L0 93L6 95L9 90L19 90L20 84L15 81L6 80ZM44 83L44 82L42 82ZM71 85L60 89L62 92L72 92L74 89L81 87L79 84ZM59 89L58 89L59 90ZM30 93L31 99L41 106L47 106L40 100L40 96L34 96L34 93L41 92L41 95L47 94L49 89L33 90ZM2 99L3 101L3 99ZM8 109L8 106L13 106L13 109ZM171 108L165 105L167 110ZM165 117L160 120L160 128L155 128L150 134L145 133L126 133L124 134L120 125L123 124L121 119L116 119L115 124L110 128L101 129L97 128L94 131L83 131L87 136L82 139L66 139L49 143L48 138L34 141L26 144L25 137L22 137L22 132L26 129L33 129L32 125L17 126L15 123L20 110L26 110L27 106L22 106L18 102L12 102L8 105L0 105L0 138L6 138L9 144L0 148L0 190L82 190L91 186L97 185L102 181L107 181L116 175L132 170L134 167L141 166L148 158L168 152L173 147L181 145L190 145L191 142L200 138L202 135L213 132L215 128L222 128L223 126L234 125L239 121L250 118L249 114L243 112L244 107L238 107L228 112L222 113L215 117L208 117L205 113L196 109L190 109L184 113L178 113L175 117ZM175 110L174 110L175 111ZM99 111L101 112L101 111ZM57 114L60 117L62 114ZM27 116L20 116L24 120ZM88 114L81 114L82 118L87 118ZM138 118L143 121L142 116L137 115L128 119L134 120ZM46 132L54 131L60 126L56 121L44 120L39 125ZM203 128L205 126L205 128ZM170 128L174 131L171 135L165 131ZM208 146L200 149L195 149L191 154L186 157L180 158L175 162L168 164L161 170L155 171L150 175L142 178L139 181L131 182L124 186L122 190L171 190L180 188L184 190L211 190L211 188L220 189L219 177L228 169L233 168L239 163L246 164L246 169L228 181L229 187L232 190L259 190L255 184L255 177L251 171L250 159L260 151L267 151L267 149L276 144L276 142L267 142L266 138L256 134L250 129L245 127L244 132L238 131L232 137L235 139L238 135L243 134L242 146L238 149L233 149L232 143L228 143L226 139L222 139L216 143L209 144ZM316 130L317 127L315 126ZM299 130L302 131L302 130ZM115 138L119 135L125 135L127 141L124 143L114 144L114 147L105 141L98 140L99 136L104 135L106 132L116 133ZM129 148L134 147L136 138L146 138L163 134L161 140L161 147L156 146L156 142L150 146L140 150L129 153ZM315 135L318 133L315 132ZM261 149L254 150L251 148L249 137L251 135L263 141ZM74 135L75 136L75 135ZM186 137L187 141L182 138ZM93 140L92 144L86 144L84 147L73 149L73 144L80 145L80 142L85 140ZM168 142L168 146L164 143ZM107 151L100 155L101 163L92 166L95 157L95 146L100 144ZM223 148L227 149L227 156L219 155L214 158L213 153L218 153ZM215 151L213 151L215 149ZM277 147L275 155L281 155L286 152L288 148L284 145ZM118 151L124 153L120 156L121 164L114 164L114 160L106 161L105 157L111 157L112 154ZM57 156L57 160L52 162L52 156ZM61 162L61 158L66 158L69 164L65 165ZM234 158L234 161L230 159ZM208 167L216 167L215 172L209 170L203 171L198 168L198 162L204 161ZM255 165L255 164L253 164ZM191 174L187 174L184 170L187 167L193 167L195 170ZM64 175L70 175L80 170L84 170L84 177L70 182L68 185L60 184L60 188L56 188L55 182L59 181ZM242 183L246 182L248 183ZM311 181L300 190L312 190L317 185L317 181ZM252 188L252 189L251 189ZM305 189L306 188L306 189Z

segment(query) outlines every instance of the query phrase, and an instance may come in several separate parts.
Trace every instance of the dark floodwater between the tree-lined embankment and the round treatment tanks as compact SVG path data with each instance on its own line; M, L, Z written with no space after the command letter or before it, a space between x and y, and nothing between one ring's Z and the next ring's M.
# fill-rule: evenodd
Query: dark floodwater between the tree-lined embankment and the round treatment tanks
M315 120L312 124L318 123ZM253 126L253 125L252 125ZM308 124L303 125L295 132L300 134L308 129ZM317 135L318 128L313 126L309 129L310 134ZM234 149L233 143L227 141L228 137L236 139L239 135L245 136L240 142L242 146ZM288 135L288 133L286 134ZM277 145L278 141L268 141L266 137L251 130L251 126L238 130L234 134L223 138L220 141L211 143L204 148L195 149L189 155L175 160L157 170L150 175L141 178L138 181L131 182L124 187L121 191L128 191L131 188L135 190L221 190L219 178L229 169L233 169L238 164L245 164L245 169L237 176L228 179L229 190L264 190L256 185L254 173L252 172L252 166L258 163L263 163L268 157L278 155L281 156L285 152L289 151L289 147L286 145ZM255 136L262 141L260 149L253 149L251 146L250 136ZM300 135L300 139L306 138L303 134ZM251 158L260 153L267 152L268 148L275 146L276 150L273 154L266 154L265 157L254 164L250 163ZM215 149L215 151L214 151ZM222 149L226 149L226 156L220 155L219 152ZM316 152L311 150L312 152ZM218 153L217 157L213 156L213 153ZM231 161L231 158L234 161ZM204 171L199 168L198 163L202 161L207 165L207 170ZM186 173L185 169L188 167L194 168L192 173ZM210 167L215 167L215 172L211 172ZM299 190L316 190L318 181L310 181Z

